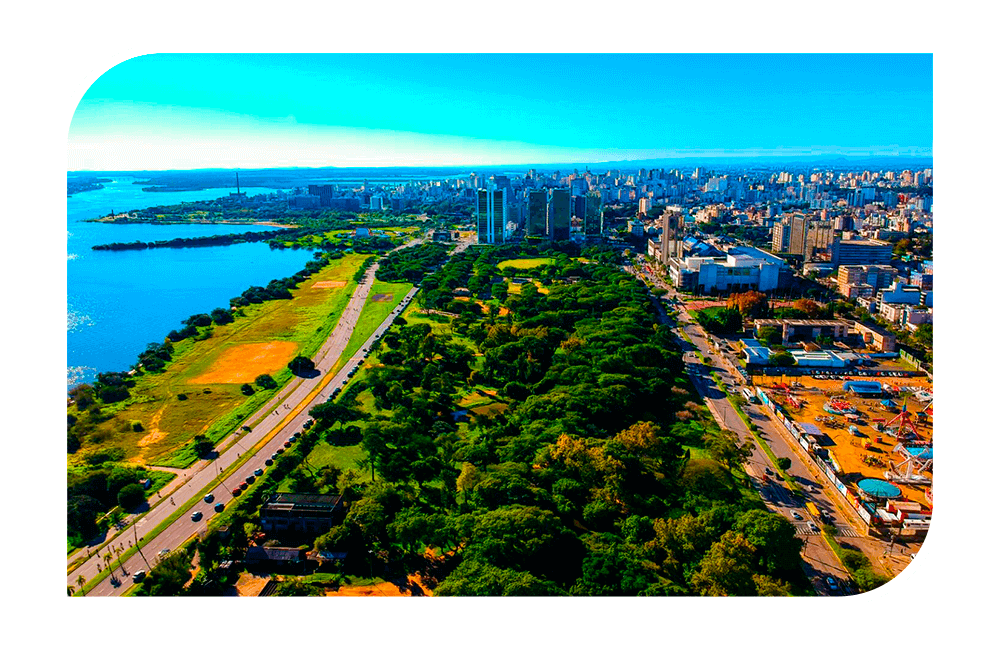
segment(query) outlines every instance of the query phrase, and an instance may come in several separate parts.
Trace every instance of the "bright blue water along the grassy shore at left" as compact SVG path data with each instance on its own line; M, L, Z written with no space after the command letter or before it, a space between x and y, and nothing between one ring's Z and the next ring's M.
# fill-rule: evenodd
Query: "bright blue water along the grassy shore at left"
M66 356L70 386L98 372L126 371L149 343L162 342L192 314L229 307L251 285L264 286L301 270L309 250L271 250L256 242L211 248L94 251L111 242L271 230L273 226L86 223L138 208L227 196L232 188L192 192L143 192L137 177L116 177L102 190L67 199ZM262 187L240 188L248 196Z

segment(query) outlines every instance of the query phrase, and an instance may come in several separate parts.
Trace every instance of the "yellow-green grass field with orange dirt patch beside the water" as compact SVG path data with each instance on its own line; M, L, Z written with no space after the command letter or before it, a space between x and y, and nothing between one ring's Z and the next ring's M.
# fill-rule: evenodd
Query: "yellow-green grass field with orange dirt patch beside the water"
M132 397L102 408L108 419L80 418L83 445L68 457L69 466L106 450L136 463L190 465L196 459L183 450L195 435L221 440L292 378L288 361L315 354L339 320L366 257L334 260L300 283L291 300L250 305L233 323L201 328L211 330L208 338L175 344L163 372L140 375ZM314 287L317 282L326 285ZM244 395L240 386L258 374L270 374L279 387ZM80 417L72 406L69 412Z

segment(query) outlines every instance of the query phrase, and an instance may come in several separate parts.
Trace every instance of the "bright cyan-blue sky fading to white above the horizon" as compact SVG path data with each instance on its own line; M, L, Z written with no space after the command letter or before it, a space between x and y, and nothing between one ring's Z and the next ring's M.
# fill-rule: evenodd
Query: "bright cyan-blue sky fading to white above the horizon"
M69 171L931 155L933 50L830 49L144 46L81 81L60 138Z

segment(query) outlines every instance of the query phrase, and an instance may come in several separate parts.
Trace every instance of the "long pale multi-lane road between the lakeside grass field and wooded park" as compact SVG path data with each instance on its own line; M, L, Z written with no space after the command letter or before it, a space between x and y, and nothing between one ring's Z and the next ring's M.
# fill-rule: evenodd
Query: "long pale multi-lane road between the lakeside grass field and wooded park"
M423 241L426 239L413 240L406 246L417 245ZM464 250L469 243L467 241L460 243L452 251L452 254ZM112 574L93 586L86 594L87 596L121 595L132 586L132 576L136 571L141 570L148 573L152 567L156 566L156 563L161 559L161 552L176 549L192 537L206 531L208 523L217 514L215 506L223 504L225 507L233 498L238 498L232 496L232 490L248 476L253 475L254 470L267 471L265 461L273 454L280 453L279 448L283 448L284 443L293 434L302 431L303 425L310 419L309 411L312 407L327 401L334 388L346 383L351 371L364 360L365 352L363 351L371 349L376 339L392 325L396 316L402 313L419 291L418 287L410 289L397 308L386 317L361 346L358 354L350 358L343 368L333 374L333 368L346 350L354 332L354 327L371 291L377 269L377 263L368 269L364 279L358 284L341 314L336 327L313 358L318 372L312 377L294 379L267 405L247 418L243 425L253 422L257 422L257 424L249 432L245 432L242 425L238 427L236 433L219 444L218 449L222 451L215 459L199 461L192 468L182 472L183 482L179 487L173 489L170 494L164 495L147 512L133 518L130 525L110 540L110 543L75 568L67 577L68 585L75 589L78 576L82 575L88 581L96 576L99 573L98 566L103 567L103 556L109 550L120 548L124 555L124 552L138 542L141 552L122 560L121 563L117 559L114 560L111 563L114 568ZM262 447L253 451L253 448L258 444L262 444ZM237 468L236 471L221 485L212 488L214 497L212 503L204 502L202 497L208 491L209 486L233 467ZM184 507L184 504L194 498L197 498L197 502L193 506L185 508L180 516L159 532L155 538L146 539L153 529L175 516ZM191 518L196 511L202 513L201 519L197 522Z

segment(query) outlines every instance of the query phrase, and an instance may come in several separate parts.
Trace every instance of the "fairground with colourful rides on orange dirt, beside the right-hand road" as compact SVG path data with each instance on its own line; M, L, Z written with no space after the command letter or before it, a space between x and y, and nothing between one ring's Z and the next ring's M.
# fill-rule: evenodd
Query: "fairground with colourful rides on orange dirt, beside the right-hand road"
M904 520L929 517L934 454L927 378L756 377L754 383L873 526L902 530Z

